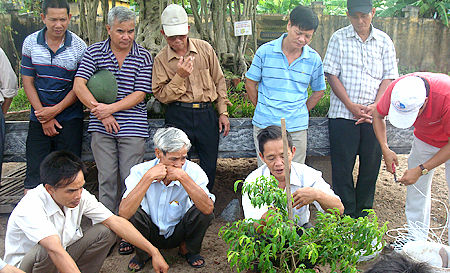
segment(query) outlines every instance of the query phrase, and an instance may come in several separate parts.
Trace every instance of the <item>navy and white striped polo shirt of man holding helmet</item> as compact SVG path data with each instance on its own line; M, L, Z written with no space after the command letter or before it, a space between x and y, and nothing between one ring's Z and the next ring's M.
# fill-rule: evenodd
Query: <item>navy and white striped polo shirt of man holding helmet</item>
M152 56L145 48L133 41L122 68L119 68L110 47L110 39L95 43L88 47L75 77L86 80L97 71L107 69L117 80L119 101L134 91L151 93L152 90ZM100 132L114 137L148 137L147 110L144 101L136 106L113 114L119 123L118 134L108 133L103 123L94 115L90 115L88 132Z

